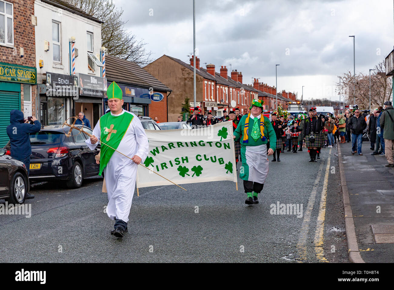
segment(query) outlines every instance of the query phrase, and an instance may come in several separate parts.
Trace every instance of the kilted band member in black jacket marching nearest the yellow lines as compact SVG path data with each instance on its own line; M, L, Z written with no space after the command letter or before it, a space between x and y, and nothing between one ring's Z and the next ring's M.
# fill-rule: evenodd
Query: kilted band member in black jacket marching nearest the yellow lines
M309 117L305 119L304 125L305 143L310 155L309 162L317 162L318 147L321 147L323 142L323 139L320 137L322 128L322 120L314 116L313 109L309 109Z

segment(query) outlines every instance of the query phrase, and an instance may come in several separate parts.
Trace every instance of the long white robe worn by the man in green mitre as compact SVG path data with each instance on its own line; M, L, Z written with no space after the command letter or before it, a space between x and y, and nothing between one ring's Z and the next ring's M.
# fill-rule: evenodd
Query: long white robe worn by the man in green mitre
M112 112L110 112L110 114L112 114ZM141 162L143 162L148 155L149 144L141 121L136 115L126 110L123 110L119 115L112 114L112 116L120 116L121 114L132 114L134 118L116 149L130 158L134 155L138 155L142 159ZM93 135L99 138L99 140L100 132L99 121L93 129ZM90 138L85 142L91 150L96 148L99 143L91 144ZM134 195L134 187L136 186L137 166L138 165L132 160L115 151L110 161L108 161L107 166L104 168L108 194L106 212L110 219L115 219L116 217L122 221L128 221L128 215Z

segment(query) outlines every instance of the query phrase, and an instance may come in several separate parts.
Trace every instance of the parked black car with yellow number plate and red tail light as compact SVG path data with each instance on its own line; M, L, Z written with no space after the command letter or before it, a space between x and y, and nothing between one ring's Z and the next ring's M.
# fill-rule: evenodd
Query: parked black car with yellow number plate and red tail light
M78 134L79 131L73 129L73 136L66 137L65 131L68 130L69 127L63 130L61 125L50 125L37 133L30 133L30 181L63 180L67 187L78 188L83 178L99 174L95 155L99 154L100 145L90 150L85 143L89 138L87 135ZM92 134L88 127L84 127L84 130ZM9 142L4 149L10 149Z

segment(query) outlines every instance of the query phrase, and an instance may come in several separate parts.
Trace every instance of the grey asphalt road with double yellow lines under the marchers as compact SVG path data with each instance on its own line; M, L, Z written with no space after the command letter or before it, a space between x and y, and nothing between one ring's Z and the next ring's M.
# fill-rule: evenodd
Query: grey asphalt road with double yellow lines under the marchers
M230 181L141 188L123 239L110 235L101 178L35 184L30 218L0 215L0 262L348 262L336 148L321 157L270 156L251 206L240 179L238 191ZM271 214L277 202L302 204L302 217Z

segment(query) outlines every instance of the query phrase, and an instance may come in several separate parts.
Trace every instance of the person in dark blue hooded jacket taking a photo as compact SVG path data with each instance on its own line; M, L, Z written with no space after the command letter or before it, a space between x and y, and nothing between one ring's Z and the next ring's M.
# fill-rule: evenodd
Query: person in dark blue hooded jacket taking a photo
M32 145L30 144L29 133L36 133L41 129L41 123L33 116L34 124L29 124L23 118L20 110L12 110L10 112L9 122L7 126L7 135L11 143L11 157L22 161L26 166L27 173L30 169L30 155L32 154ZM26 199L34 198L34 195L26 193Z

